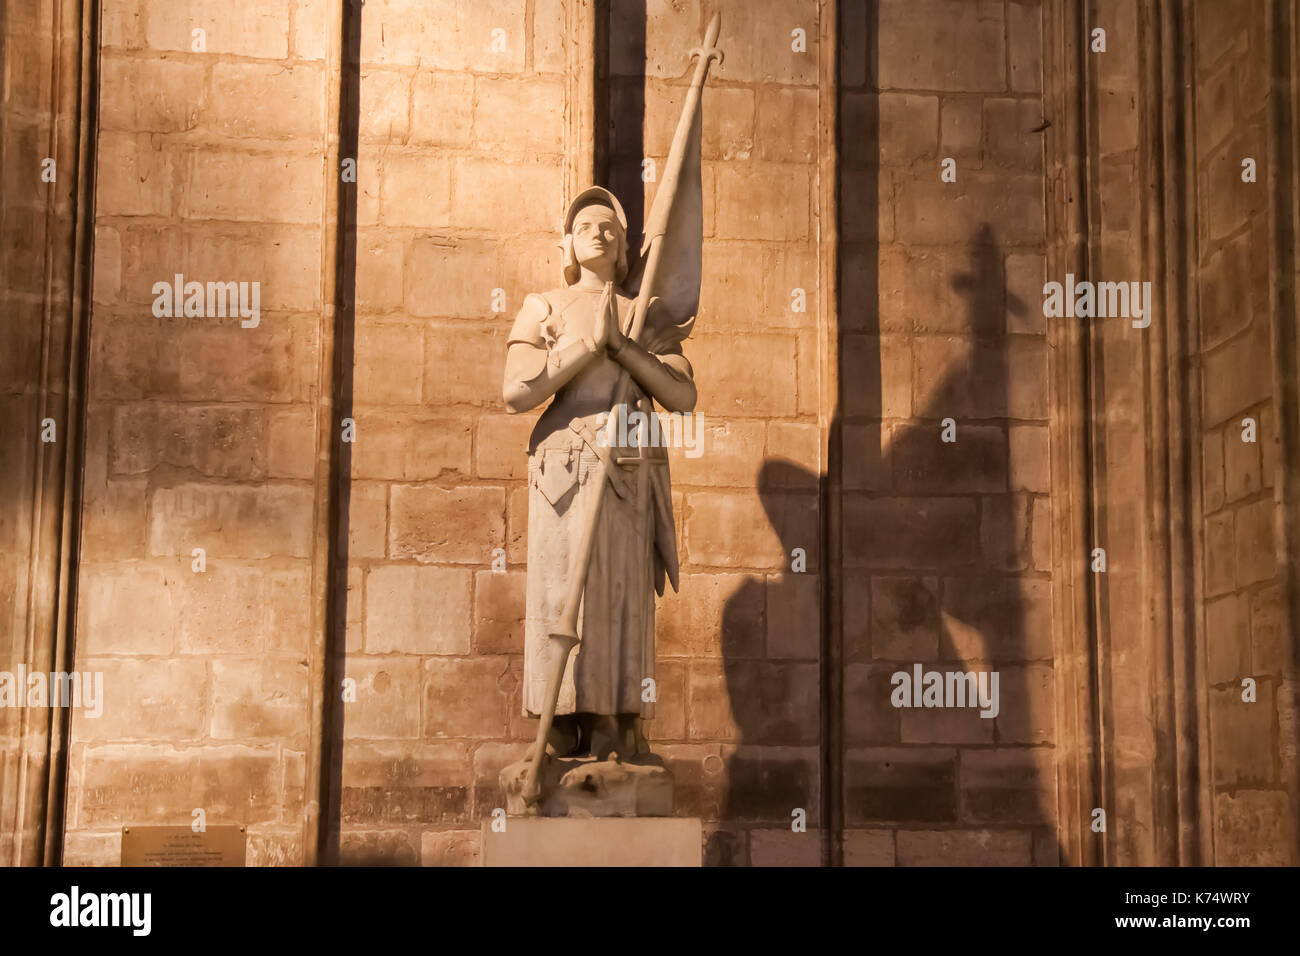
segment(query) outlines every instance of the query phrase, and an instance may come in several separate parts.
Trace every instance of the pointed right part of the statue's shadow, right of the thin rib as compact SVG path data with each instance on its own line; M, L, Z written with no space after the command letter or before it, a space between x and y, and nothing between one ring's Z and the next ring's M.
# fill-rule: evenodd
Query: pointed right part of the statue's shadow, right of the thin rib
M1056 808L1043 799L1054 792L1053 750L1030 749L1050 740L1034 726L1044 689L1036 685L1041 671L1030 666L1052 661L1050 592L1046 575L1032 571L1032 498L1017 492L1010 459L1013 395L1022 389L1014 380L1020 369L1009 360L1008 316L1026 315L1028 306L1006 291L1004 252L989 224L975 229L967 248L970 265L952 280L963 302L966 347L932 390L915 382L916 394L928 394L924 407L894 425L880 470L863 477L863 497L846 507L846 564L871 575L864 626L853 633L845 615L845 643L857 644L846 654L857 669L846 679L848 737L863 748L846 767L846 826L1017 831L991 838L991 861L1056 864ZM946 444L949 418L956 441ZM997 718L978 709L881 705L890 675L916 662L941 672L997 672ZM863 691L870 705L853 700ZM888 726L890 711L898 739L933 744L933 756L905 765L871 752L885 743L871 728ZM1050 734L1050 706L1046 722ZM956 760L939 753L945 745L958 748Z

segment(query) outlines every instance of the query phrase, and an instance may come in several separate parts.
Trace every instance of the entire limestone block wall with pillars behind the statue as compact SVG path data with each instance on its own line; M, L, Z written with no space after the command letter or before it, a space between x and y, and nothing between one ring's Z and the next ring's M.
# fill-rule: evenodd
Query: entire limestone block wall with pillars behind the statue
M344 0L103 0L98 74L83 7L0 9L0 670L57 659L75 598L77 669L107 689L73 714L66 862L195 810L244 826L252 865L312 861L317 770L342 862L477 861L534 732L537 414L504 411L506 334L560 284L593 156L637 232L715 12L701 446L671 451L681 593L649 727L706 862L1290 861L1278 3L1100 0L1108 48L1070 60L1076 0L610 0L594 146L577 0L368 0L359 64ZM95 135L92 222L75 176L40 183L75 155L56 116ZM1156 282L1150 328L1046 319L1067 259ZM213 313L208 284L255 284L256 312ZM918 665L996 672L997 715L894 706ZM22 787L57 754L13 710L0 743L0 860L30 861Z

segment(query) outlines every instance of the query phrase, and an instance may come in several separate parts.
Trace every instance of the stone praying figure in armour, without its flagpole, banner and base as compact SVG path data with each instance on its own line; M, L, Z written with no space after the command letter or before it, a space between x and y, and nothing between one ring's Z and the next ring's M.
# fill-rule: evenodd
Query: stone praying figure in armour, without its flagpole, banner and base
M641 719L654 715L655 594L666 580L677 589L667 450L645 442L647 429L636 423L655 415L656 403L668 412L694 408L681 351L694 316L675 321L650 298L641 339L629 334L636 300L623 285L627 230L614 194L581 193L564 217L564 286L524 299L507 346L506 407L523 412L550 401L528 445L525 715L541 717L554 693L549 675L562 652L551 635L581 551L589 553L578 640L546 739L555 757L649 753Z

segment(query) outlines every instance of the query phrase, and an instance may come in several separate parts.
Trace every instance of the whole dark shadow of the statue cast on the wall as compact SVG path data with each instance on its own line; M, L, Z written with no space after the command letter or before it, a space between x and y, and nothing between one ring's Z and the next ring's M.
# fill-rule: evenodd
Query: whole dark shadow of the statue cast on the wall
M875 194L858 189L853 195L870 206ZM875 211L862 219L875 222ZM797 713L790 701L797 688L785 678L792 662L755 658L744 637L755 601L762 606L766 600L768 614L797 604L789 592L805 575L790 571L786 561L781 576L766 585L746 580L723 613L738 748L728 761L710 864L753 862L746 830L788 830L790 808L818 804L832 831L829 845L842 847L837 862L894 862L893 838L872 834L858 840L845 832L888 829L996 831L991 862L1060 860L1054 805L1044 799L1054 792L1054 752L1030 747L1031 700L1043 691L1031 685L1035 672L1026 666L1052 659L1050 600L1041 587L1044 575L1020 576L1032 568L1031 505L1028 496L1015 493L1010 475L1009 403L1017 369L1008 359L1006 315L1023 313L1026 303L1008 299L1002 251L991 225L979 226L968 247L970 268L953 278L965 302L966 354L954 354L933 389L918 382L918 393L928 395L926 406L893 421L885 419L880 316L875 304L866 304L879 300L879 250L853 239L841 248L841 389L832 429L842 458L832 454L831 467L840 468L844 481L842 524L827 528L823 518L822 533L833 541L838 531L842 541L842 578L838 585L831 579L842 631L823 633L823 661L838 672L823 670L823 710L829 705L832 713L818 739L820 786L842 793L842 809L833 795L816 799L818 775L789 749L800 737L786 723ZM949 418L957 425L954 442L941 441ZM790 533L797 529L789 520L792 496L819 494L827 515L832 485L827 475L790 462L764 462L759 493L786 559L802 544ZM818 571L831 567L833 557ZM1032 596L1023 591L1027 580L1037 588ZM768 635L772 626L768 620ZM982 718L978 708L896 709L890 676L911 672L915 663L924 671L997 671L998 717ZM842 680L842 697L836 679ZM842 765L827 760L837 740ZM809 830L822 822L809 814Z

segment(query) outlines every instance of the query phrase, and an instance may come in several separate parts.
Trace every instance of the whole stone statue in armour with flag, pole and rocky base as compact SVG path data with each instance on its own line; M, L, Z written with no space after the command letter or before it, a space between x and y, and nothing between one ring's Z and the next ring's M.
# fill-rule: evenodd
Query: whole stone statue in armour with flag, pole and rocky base
M641 727L654 715L655 593L677 588L668 457L645 440L658 429L628 424L696 406L681 342L699 303L699 94L716 36L715 17L638 268L619 200L584 190L564 216L564 286L528 295L510 333L506 407L550 399L528 446L524 713L540 723L502 771L512 814L672 812L672 777Z

